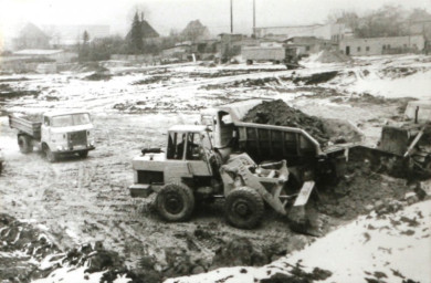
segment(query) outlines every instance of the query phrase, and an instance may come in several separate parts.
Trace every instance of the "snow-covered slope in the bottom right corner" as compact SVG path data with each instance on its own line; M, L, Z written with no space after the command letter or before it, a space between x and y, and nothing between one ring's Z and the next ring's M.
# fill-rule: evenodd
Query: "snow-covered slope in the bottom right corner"
M430 259L430 200L402 203L359 217L262 268L219 269L166 282L429 282L430 269L421 263Z

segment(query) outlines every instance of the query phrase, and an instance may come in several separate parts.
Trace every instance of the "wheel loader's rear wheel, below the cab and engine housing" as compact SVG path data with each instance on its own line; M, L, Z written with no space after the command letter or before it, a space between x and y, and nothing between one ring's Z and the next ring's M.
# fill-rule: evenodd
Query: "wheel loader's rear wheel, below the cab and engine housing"
M182 184L168 184L157 193L156 208L167 221L185 221L195 208L193 192Z

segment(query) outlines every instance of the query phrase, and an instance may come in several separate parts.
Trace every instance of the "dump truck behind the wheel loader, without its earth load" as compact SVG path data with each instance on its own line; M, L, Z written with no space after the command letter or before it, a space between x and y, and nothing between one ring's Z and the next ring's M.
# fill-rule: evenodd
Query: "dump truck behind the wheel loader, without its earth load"
M201 112L201 124L212 129L211 138L219 158L232 153L246 153L256 163L288 161L291 181L304 180L334 184L345 175L348 150L355 144L325 148L302 128L244 123L242 117L262 99L250 99Z

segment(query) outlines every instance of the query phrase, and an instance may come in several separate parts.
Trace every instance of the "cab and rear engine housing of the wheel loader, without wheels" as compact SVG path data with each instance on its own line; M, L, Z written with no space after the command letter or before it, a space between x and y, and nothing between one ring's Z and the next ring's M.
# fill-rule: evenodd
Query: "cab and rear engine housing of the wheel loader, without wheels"
M166 150L146 153L133 159L133 197L146 197L166 184L181 180L192 187L211 185L217 168L212 158L209 129L202 125L178 125L168 130Z

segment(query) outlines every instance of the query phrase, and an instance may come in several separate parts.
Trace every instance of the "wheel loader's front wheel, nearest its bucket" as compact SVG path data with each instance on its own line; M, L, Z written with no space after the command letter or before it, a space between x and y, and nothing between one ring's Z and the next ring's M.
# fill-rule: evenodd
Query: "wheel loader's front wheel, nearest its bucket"
M224 206L228 222L243 229L256 227L264 211L261 195L248 187L241 187L229 192Z

